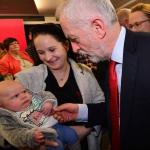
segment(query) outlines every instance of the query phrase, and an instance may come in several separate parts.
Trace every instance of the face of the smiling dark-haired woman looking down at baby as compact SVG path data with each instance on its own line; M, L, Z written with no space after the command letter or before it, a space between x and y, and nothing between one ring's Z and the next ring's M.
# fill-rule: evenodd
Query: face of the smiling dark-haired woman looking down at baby
M39 58L49 69L61 69L67 62L67 46L54 37L48 34L38 35L34 39L34 44Z

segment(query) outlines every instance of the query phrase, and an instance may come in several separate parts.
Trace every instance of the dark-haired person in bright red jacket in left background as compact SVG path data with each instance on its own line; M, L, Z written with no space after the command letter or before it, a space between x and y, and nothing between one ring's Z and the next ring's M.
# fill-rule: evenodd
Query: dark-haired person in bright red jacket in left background
M20 51L17 39L9 37L3 43L7 54L0 60L0 75L4 79L13 79L15 73L33 66L29 55Z

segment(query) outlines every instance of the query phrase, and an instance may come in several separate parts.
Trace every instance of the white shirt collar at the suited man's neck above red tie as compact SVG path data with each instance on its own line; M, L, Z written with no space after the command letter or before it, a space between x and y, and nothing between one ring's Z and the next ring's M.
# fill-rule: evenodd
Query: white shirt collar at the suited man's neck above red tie
M125 41L126 29L125 27L121 27L121 31L115 47L113 49L111 60L118 62L119 64L123 63L123 49L124 49L124 41Z

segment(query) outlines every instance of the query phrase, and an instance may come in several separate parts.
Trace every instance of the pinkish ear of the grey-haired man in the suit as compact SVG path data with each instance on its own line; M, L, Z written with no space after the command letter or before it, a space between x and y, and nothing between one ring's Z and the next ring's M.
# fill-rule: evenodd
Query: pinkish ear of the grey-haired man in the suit
M103 39L106 35L105 24L101 19L94 19L92 21L92 27L94 32L100 39Z

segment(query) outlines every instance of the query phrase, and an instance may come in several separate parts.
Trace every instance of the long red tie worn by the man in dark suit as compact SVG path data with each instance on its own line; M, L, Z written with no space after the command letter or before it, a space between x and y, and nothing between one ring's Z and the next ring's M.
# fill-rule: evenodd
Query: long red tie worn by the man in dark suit
M109 63L109 104L110 117L112 125L112 148L111 150L120 150L120 127L119 127L119 94L117 85L117 74L115 71L116 62Z

